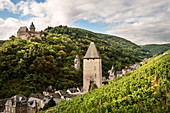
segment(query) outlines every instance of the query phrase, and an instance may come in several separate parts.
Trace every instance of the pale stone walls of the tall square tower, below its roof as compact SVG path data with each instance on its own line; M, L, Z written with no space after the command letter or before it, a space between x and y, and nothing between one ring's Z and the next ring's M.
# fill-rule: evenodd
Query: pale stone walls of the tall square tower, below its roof
M88 92L90 81L97 87L102 86L102 61L101 59L83 59L83 91Z

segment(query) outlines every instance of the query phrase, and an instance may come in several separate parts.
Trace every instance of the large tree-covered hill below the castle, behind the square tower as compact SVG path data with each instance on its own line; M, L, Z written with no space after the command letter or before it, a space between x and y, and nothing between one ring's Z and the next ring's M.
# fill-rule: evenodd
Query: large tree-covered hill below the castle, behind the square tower
M91 41L102 57L103 76L112 65L126 65L150 57L148 50L123 38L68 28L48 27L41 39L11 36L0 48L0 98L15 94L41 93L49 85L57 90L82 86L82 59ZM73 68L79 55L81 69Z

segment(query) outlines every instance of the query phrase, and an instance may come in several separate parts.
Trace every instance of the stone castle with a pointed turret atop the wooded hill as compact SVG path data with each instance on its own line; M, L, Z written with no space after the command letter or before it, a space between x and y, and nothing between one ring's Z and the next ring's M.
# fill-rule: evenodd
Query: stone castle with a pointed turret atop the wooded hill
M27 40L29 40L30 38L33 38L33 39L41 38L42 36L43 36L42 31L35 31L35 26L33 22L31 23L29 30L26 26L23 26L23 27L20 27L17 31L17 37L27 39Z

